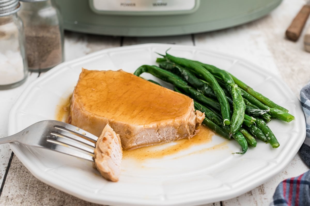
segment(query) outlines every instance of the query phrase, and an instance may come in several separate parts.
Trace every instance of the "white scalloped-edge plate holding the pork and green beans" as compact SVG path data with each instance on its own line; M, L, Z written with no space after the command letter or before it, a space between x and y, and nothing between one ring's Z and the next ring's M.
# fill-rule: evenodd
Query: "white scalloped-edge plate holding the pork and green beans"
M100 177L91 162L60 153L11 144L15 155L44 183L86 201L122 206L199 205L226 200L250 191L280 173L305 138L305 120L299 100L285 83L260 67L236 57L191 46L142 44L111 48L62 63L29 85L17 100L9 116L9 135L40 120L55 119L57 104L73 91L82 67L134 72L140 65L155 64L158 57L155 52L164 53L168 48L173 55L227 69L289 109L296 117L295 121L272 120L268 123L280 147L272 149L270 145L258 142L256 148L238 155L232 154L240 151L235 141L226 144L226 140L214 136L206 145L163 158L144 162L125 159L117 183ZM204 149L219 144L226 146Z

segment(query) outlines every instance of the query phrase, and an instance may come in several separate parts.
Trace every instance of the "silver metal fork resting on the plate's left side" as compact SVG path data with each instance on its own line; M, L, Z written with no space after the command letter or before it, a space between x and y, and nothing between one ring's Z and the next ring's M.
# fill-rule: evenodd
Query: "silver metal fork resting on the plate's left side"
M0 144L19 142L23 145L54 150L93 162L98 137L71 124L44 120L32 124L9 137L0 138Z

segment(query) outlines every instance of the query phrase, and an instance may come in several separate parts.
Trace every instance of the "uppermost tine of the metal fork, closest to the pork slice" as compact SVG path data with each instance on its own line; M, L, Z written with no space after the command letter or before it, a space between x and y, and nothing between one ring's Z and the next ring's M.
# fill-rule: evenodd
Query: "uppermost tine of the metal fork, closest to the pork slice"
M85 138L86 140L89 140L91 142L96 142L98 137L96 137L95 135L91 134L90 132L87 132L81 128L77 128L71 124L67 124L67 123L64 123L64 122L60 122L60 121L55 121L54 122L54 127L55 128L59 128L59 129L63 129L63 130L66 130L68 132L72 132L72 133L75 133L75 134L78 134L79 136Z

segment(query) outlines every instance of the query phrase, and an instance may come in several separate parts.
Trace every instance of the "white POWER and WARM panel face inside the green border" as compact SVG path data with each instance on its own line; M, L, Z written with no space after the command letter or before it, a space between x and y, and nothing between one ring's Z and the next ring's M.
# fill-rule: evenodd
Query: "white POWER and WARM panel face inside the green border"
M96 11L191 11L197 0L92 0Z

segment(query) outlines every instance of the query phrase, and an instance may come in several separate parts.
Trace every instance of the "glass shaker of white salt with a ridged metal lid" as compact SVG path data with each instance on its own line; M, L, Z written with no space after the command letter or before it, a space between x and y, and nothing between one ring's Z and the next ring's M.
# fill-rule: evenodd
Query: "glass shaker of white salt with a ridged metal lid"
M19 10L18 0L0 0L0 89L19 86L28 76Z

